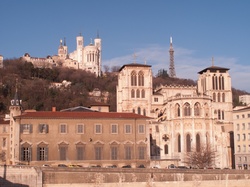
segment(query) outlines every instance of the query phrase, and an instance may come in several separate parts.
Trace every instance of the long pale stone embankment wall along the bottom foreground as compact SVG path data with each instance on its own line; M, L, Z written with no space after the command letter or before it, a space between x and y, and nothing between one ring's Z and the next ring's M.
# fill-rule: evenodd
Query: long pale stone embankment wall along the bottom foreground
M248 187L250 170L1 166L1 187Z

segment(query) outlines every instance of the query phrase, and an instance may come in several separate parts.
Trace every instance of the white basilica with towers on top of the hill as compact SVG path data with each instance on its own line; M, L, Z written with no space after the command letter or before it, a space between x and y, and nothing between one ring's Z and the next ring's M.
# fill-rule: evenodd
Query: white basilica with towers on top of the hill
M25 53L22 57L24 61L32 62L34 67L51 68L51 67L68 67L82 69L94 73L96 76L101 75L101 39L99 34L89 45L84 46L84 38L81 34L76 37L76 50L69 53L66 40L60 40L58 54L48 55L46 58L31 57Z

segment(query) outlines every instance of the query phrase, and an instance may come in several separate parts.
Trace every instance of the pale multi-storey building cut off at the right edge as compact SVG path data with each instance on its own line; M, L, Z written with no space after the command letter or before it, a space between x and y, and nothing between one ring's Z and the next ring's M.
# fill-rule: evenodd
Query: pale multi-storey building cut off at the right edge
M233 110L235 168L250 169L250 107Z

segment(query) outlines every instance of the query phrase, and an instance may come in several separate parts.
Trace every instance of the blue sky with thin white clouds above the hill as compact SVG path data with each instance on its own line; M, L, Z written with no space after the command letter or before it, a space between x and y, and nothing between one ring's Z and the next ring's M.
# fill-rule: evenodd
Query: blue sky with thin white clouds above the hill
M64 38L73 52L80 33L84 45L99 33L102 66L136 61L156 75L169 69L172 37L178 78L196 81L214 64L230 69L232 87L250 92L249 0L1 0L0 7L4 59L56 55Z

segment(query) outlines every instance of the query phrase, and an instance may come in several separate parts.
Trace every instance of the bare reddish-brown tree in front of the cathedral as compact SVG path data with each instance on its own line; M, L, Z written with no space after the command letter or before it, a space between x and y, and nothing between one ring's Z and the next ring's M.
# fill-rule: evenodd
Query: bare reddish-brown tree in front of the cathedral
M192 168L208 168L215 163L216 152L210 144L203 144L200 149L192 148L192 151L187 152L184 158L184 163Z

